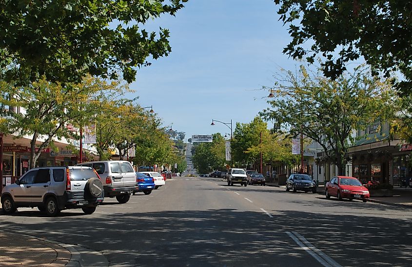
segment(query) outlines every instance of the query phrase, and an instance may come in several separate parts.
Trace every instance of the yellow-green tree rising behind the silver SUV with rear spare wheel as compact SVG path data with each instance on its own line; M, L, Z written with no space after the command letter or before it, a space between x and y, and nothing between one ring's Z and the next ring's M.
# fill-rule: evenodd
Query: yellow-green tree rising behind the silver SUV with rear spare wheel
M96 79L86 77L80 84L51 83L43 76L38 82L29 86L15 87L6 82L0 82L2 105L18 107L1 110L8 133L17 137L32 135L30 141L30 168L34 168L40 153L44 148L53 145L55 138L76 138L78 135L66 128L67 123L76 121L85 124L90 121L93 110L92 96L104 90ZM36 144L42 137L38 151Z

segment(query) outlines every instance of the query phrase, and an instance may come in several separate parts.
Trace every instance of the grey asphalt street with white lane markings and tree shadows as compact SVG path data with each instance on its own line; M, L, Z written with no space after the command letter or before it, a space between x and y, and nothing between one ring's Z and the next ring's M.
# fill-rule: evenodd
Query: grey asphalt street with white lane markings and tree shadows
M412 212L222 179L174 177L92 215L37 209L2 229L101 252L112 266L412 266Z

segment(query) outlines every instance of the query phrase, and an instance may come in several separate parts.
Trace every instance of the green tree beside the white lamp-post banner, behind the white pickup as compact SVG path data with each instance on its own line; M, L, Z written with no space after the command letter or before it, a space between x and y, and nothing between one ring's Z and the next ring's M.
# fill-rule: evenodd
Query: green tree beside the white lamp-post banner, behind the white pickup
M259 145L260 133L262 136L269 134L267 127L267 123L259 116L256 116L250 123L236 123L231 143L232 156L236 162L243 166L253 164L257 169L260 151L248 151L248 149Z

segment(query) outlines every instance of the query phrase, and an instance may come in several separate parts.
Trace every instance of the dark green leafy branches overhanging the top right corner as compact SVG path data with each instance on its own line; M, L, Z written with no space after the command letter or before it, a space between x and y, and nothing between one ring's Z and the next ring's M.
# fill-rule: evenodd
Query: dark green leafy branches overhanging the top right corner
M316 55L326 76L337 78L345 64L360 56L373 74L384 71L389 77L400 70L405 80L398 83L412 93L412 2L390 0L274 0L278 14L289 25L292 41L283 53L314 62ZM311 47L304 46L311 43Z

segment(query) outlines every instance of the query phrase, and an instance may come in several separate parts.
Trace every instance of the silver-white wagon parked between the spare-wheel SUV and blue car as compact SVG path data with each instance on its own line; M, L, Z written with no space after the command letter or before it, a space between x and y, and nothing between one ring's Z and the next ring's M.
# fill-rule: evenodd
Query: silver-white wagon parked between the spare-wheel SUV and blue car
M104 197L116 197L119 203L129 201L130 195L138 190L135 170L128 161L91 161L79 163L76 166L87 166L95 169L103 183Z

